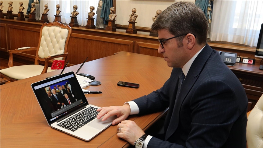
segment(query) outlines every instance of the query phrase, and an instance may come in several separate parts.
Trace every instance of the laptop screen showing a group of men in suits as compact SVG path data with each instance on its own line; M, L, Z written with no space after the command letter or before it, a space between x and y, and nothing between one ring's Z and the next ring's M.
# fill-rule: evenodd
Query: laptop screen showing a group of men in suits
M74 72L31 84L49 125L88 105Z

